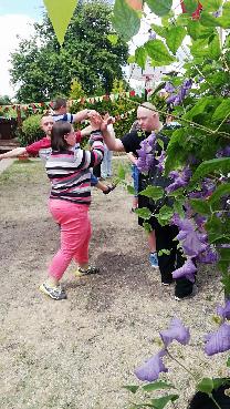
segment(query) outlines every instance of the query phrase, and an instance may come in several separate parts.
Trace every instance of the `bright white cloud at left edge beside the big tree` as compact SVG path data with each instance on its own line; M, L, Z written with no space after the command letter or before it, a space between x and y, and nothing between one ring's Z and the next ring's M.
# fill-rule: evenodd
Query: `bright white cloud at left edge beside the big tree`
M0 16L0 95L13 96L15 89L10 84L10 53L13 52L19 44L20 39L29 39L33 33L34 20L24 14L6 14Z

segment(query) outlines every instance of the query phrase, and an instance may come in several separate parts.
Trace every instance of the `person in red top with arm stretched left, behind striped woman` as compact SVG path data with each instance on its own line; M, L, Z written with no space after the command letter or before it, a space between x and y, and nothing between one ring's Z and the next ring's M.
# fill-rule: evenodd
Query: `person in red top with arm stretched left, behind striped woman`
M46 161L51 154L51 131L53 127L52 116L42 116L41 129L44 131L45 136L40 141L33 142L24 147L15 147L12 151L0 154L0 161L3 159L19 157L19 156L35 156L39 155L42 161Z

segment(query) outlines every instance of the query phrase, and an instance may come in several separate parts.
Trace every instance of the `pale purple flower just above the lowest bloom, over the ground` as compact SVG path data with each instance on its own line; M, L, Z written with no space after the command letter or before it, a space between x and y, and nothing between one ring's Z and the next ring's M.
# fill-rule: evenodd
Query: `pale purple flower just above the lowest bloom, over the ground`
M176 317L171 319L169 329L160 331L159 335L166 348L174 339L182 345L187 345L190 339L189 328L186 328L181 320Z

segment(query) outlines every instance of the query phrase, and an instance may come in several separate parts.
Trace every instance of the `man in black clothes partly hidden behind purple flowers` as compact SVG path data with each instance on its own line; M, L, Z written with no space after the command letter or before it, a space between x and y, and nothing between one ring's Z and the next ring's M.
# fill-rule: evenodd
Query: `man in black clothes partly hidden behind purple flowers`
M116 152L133 152L138 156L137 150L140 149L140 142L144 141L147 136L151 134L151 132L158 132L161 127L158 112L155 106L149 102L144 102L137 109L137 120L139 122L142 133L138 131L129 132L124 135L121 140L116 139L112 135L105 135L104 140L106 145L111 151ZM158 139L161 139L164 143L167 143L167 139L160 132L158 133ZM161 150L160 145L157 145L157 151ZM166 187L169 184L169 180L166 176L163 176L158 167L151 166L148 175L140 174L139 177L139 192L146 187L147 184L154 184L157 186ZM148 207L151 212L156 209L156 205L151 200L146 196L139 195L138 197L138 206L139 207ZM139 217L138 223L142 225L143 219ZM178 234L178 228L175 225L161 226L156 217L151 217L149 221L153 229L155 229L156 235L156 247L157 252L161 249L170 250L170 254L163 254L159 256L158 254L158 264L159 270L161 275L163 285L170 285L172 283L171 273L181 267L185 263L185 258L182 257L180 250L177 248L177 242L174 238ZM194 285L187 278L176 279L175 286L175 298L177 300L184 299L188 296L192 295Z

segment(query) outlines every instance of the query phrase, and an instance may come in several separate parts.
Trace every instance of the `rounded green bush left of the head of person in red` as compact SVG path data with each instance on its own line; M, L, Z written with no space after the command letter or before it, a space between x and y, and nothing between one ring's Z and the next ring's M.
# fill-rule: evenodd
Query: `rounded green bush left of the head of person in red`
M29 145L41 140L43 131L41 130L41 115L31 115L22 123L22 130L18 134L18 140L21 146Z

